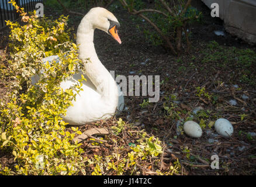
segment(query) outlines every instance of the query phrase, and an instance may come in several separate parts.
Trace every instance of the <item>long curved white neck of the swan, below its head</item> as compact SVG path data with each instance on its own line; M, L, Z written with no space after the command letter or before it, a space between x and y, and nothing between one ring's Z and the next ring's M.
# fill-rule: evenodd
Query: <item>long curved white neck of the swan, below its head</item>
M109 71L102 65L94 47L94 27L85 16L78 26L77 44L79 45L79 58L83 61L89 58L90 62L85 63L86 75L97 88L97 92L104 99L118 102L117 85Z

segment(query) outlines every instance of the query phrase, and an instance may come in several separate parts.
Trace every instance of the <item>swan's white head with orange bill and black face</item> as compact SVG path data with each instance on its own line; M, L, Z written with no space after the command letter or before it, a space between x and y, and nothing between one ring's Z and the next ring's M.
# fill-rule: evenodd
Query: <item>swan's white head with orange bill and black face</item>
M120 27L120 24L113 13L105 8L96 7L92 8L86 16L94 29L103 30L110 34L118 43L122 43L117 34L117 29Z

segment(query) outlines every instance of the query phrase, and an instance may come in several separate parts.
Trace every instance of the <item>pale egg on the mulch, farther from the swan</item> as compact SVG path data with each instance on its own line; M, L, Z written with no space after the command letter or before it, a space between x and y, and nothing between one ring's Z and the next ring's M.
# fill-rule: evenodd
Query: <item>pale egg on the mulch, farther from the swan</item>
M233 134L233 126L229 122L229 120L226 120L224 118L217 119L215 122L215 130L217 133L219 133L221 136L224 137L230 137Z

